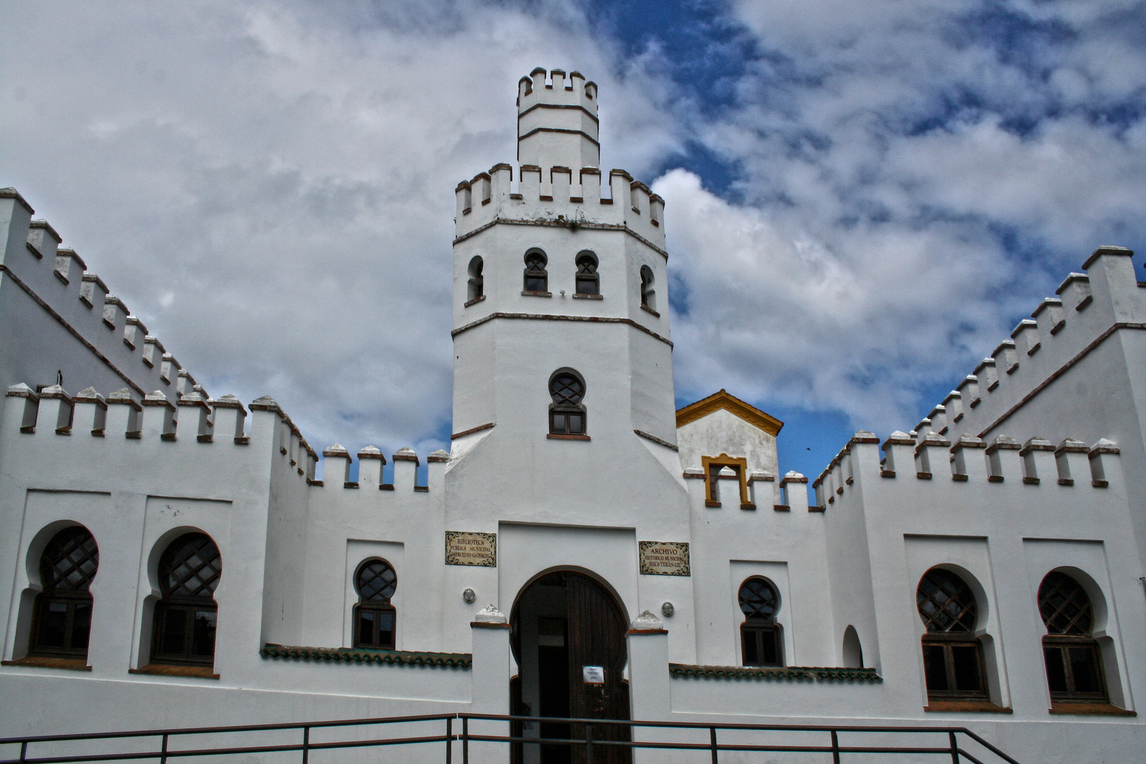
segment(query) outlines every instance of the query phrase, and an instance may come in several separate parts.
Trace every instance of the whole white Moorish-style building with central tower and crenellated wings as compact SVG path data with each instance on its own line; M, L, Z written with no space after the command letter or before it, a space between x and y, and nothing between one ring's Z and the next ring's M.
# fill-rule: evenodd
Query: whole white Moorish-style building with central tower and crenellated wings
M1132 253L1096 251L910 433L856 433L809 506L782 423L724 391L674 411L664 202L599 170L596 86L539 69L518 111L517 173L456 189L452 450L401 449L390 483L374 448L348 482L340 446L315 480L268 397L185 372L175 400L173 359L152 380L154 338L0 192L9 325L54 281L110 323L0 356L0 735L512 711L942 724L1023 762L1141 761ZM88 389L49 385L65 365Z

